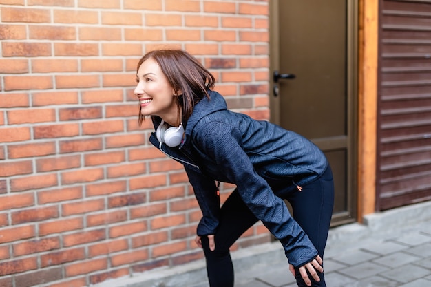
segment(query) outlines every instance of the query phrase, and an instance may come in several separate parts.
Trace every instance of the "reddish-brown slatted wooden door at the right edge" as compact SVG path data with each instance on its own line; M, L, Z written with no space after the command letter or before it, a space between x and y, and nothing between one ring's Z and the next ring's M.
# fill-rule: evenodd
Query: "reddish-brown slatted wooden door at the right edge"
M431 200L431 2L381 0L377 209Z

